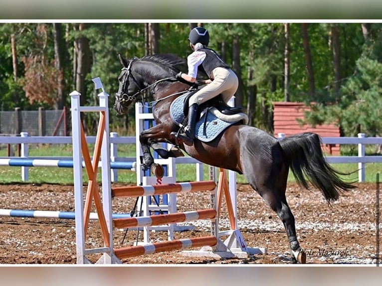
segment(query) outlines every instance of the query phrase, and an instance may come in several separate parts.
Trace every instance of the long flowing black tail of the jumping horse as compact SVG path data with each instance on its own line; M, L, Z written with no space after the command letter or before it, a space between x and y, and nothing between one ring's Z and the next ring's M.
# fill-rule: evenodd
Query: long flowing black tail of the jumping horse
M308 182L310 182L322 192L328 203L331 203L339 198L340 191L347 191L355 186L338 177L344 173L334 170L328 164L320 143L320 137L309 132L286 137L280 141L297 183L309 189Z

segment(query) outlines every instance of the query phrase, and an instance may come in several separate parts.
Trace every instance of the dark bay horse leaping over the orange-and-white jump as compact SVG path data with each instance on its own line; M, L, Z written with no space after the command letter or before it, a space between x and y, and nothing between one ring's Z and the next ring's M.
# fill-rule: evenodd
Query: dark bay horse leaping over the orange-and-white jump
M165 158L181 155L180 150L159 147L159 143L167 142L200 162L243 174L282 221L291 250L290 262L305 264L306 253L297 240L295 218L286 199L289 169L302 188L309 190L313 185L320 190L328 205L336 201L340 193L355 188L353 182L347 183L340 178L342 172L327 163L321 149L321 138L315 133L304 132L278 140L239 121L210 142L195 139L193 145L188 146L176 140L174 133L172 135L172 132L179 132L180 126L169 114L174 100L194 88L191 83L176 78L179 71L186 70L185 61L173 54L130 60L119 55L119 59L123 67L118 76L116 112L120 115L126 113L132 103L147 100L147 94L155 103L152 113L156 125L139 136L143 166L154 164L150 147Z

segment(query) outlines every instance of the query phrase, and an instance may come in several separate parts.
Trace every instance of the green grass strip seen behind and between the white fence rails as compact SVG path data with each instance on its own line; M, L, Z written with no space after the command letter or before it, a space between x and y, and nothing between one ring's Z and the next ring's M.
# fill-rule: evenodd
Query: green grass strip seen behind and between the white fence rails
M89 144L89 150L92 154L93 146ZM118 156L134 157L135 146L134 144L118 145ZM72 156L71 145L29 145L29 156ZM6 156L6 147L0 149L0 156ZM333 164L336 170L343 173L353 172L351 175L341 176L346 181L358 181L358 164ZM376 174L381 173L382 163L367 163L366 164L366 181L375 182ZM208 166L204 166L204 179L208 178ZM30 167L28 168L29 183L58 183L58 184L72 184L73 183L73 169L72 168L58 168L58 167ZM194 181L196 180L195 165L194 164L178 164L176 166L177 181ZM87 174L83 171L83 180L86 182ZM238 183L246 183L243 175L237 175L236 180ZM295 181L293 175L289 174L289 181ZM97 174L97 181L101 181L100 170ZM21 168L0 166L0 183L17 183L21 180ZM118 182L122 183L135 183L136 174L130 170L118 170Z

